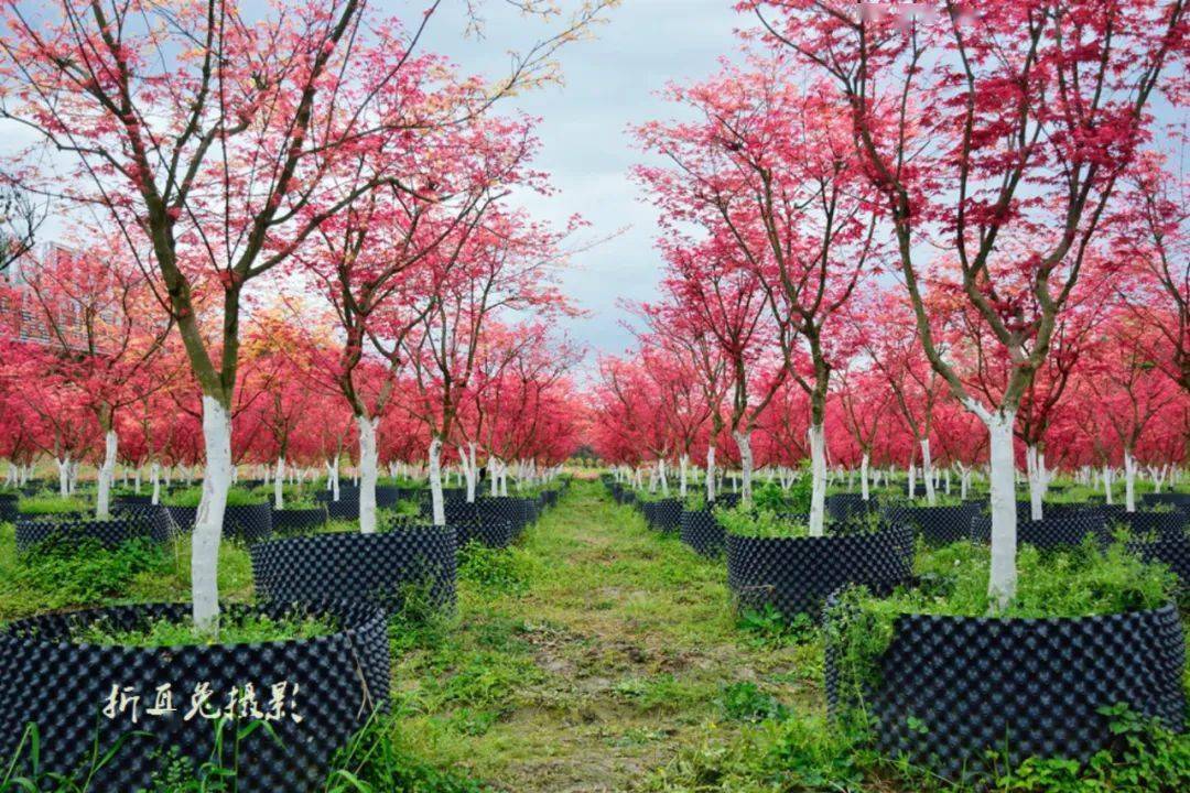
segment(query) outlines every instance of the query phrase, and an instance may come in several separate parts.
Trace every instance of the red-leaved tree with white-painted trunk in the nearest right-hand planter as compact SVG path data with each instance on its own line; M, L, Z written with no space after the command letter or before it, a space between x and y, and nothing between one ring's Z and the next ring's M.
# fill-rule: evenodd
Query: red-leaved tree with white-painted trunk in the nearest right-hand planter
M978 8L743 0L769 37L851 109L931 365L990 435L994 605L1016 592L1013 432L1148 105L1184 55L1184 0L1020 0ZM971 391L926 308L933 243L1009 361L995 399Z

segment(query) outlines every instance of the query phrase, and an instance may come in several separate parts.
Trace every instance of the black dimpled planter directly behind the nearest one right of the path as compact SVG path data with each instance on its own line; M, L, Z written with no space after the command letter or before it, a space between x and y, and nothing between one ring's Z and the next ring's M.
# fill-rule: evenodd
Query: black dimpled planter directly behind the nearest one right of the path
M739 605L771 605L789 618L820 617L826 598L848 584L890 589L912 566L913 533L903 525L848 536L727 535L727 586Z

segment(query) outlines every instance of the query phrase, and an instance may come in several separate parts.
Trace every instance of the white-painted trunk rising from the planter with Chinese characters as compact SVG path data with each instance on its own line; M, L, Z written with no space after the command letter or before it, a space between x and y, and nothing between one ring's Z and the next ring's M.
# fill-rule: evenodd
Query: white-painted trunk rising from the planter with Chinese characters
M194 518L190 550L193 616L199 630L219 628L219 542L231 489L231 415L214 397L202 397L202 442L207 468Z

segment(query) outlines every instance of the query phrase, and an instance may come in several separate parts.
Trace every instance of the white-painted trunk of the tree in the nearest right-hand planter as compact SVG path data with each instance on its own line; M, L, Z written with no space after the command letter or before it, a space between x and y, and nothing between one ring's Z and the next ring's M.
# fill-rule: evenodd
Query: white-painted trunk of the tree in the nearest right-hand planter
M991 462L991 572L988 597L1003 610L1016 597L1016 461L1013 454L1015 411L983 411Z

